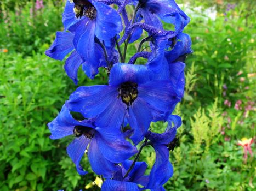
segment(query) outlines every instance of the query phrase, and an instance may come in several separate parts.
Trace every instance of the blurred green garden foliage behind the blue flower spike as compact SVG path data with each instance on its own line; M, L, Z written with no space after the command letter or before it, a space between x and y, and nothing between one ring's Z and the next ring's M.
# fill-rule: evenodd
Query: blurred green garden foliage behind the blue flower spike
M255 190L255 156L238 146L255 138L255 1L177 1L191 17L185 28L194 53L186 60L183 118L170 153L174 176L166 190ZM99 190L89 170L79 176L67 157L70 138L50 140L47 123L76 89L64 62L44 55L61 31L64 1L0 2L0 190ZM166 28L171 26L166 25ZM130 45L128 56L138 44ZM79 85L106 83L102 71ZM163 132L166 124L154 123ZM255 155L255 144L251 145ZM140 156L151 167L155 154ZM149 171L147 171L149 173ZM96 178L96 179L95 179Z

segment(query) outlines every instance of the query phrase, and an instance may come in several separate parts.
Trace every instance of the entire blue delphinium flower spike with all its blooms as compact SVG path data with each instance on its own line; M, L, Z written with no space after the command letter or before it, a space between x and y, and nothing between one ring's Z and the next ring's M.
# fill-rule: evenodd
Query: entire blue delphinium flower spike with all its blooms
M128 6L134 7L131 19ZM163 21L174 31L165 30ZM105 68L109 83L78 87L48 124L50 138L73 135L67 153L80 175L87 174L80 161L88 156L92 170L104 180L101 190L164 190L172 177L169 150L181 125L172 112L183 97L184 61L192 52L191 39L183 33L189 21L173 0L67 0L64 31L56 33L46 55L58 60L68 56L64 68L76 85L81 66L91 79ZM139 39L137 52L127 61L128 45ZM145 43L149 47L141 50ZM140 57L144 65L136 64ZM72 116L74 112L83 118ZM162 134L149 130L157 121L168 122ZM150 175L144 175L147 164L138 161L145 146L156 153Z

